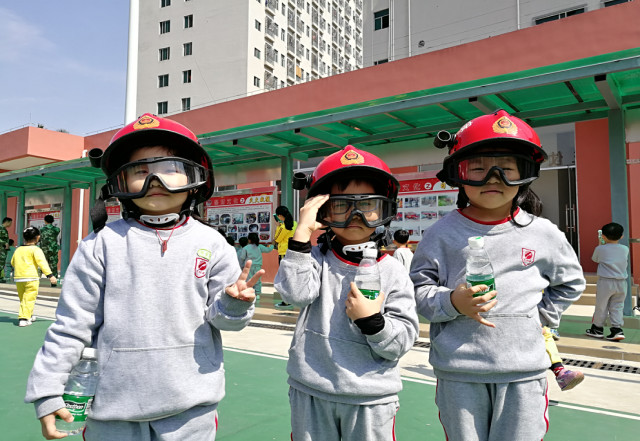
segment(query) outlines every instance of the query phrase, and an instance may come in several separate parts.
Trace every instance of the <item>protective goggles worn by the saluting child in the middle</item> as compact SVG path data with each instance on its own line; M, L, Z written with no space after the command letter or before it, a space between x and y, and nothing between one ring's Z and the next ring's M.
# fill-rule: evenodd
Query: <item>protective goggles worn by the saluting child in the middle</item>
M397 211L396 201L380 195L331 195L318 210L317 220L330 227L346 228L358 215L364 225L375 228L391 222Z

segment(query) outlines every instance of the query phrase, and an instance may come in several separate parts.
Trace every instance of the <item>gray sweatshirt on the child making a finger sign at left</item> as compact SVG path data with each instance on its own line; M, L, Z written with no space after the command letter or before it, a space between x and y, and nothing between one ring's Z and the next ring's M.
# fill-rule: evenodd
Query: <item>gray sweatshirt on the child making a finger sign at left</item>
M254 310L224 293L239 275L235 250L193 219L173 231L164 255L156 230L135 220L90 234L65 275L25 401L35 402L38 418L64 407L69 372L93 346L100 366L95 419L154 420L218 403L219 330L244 328Z

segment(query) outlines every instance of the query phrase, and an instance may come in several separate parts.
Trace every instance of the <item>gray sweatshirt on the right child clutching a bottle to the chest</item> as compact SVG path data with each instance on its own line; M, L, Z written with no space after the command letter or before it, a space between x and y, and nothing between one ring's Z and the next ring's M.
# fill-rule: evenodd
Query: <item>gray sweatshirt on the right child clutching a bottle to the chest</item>
M418 312L431 322L429 361L438 378L506 383L543 378L549 367L540 328L585 288L582 268L564 234L519 210L512 222L482 224L453 211L429 228L411 266ZM465 283L467 239L484 236L495 274L497 304L489 328L461 315L451 292Z

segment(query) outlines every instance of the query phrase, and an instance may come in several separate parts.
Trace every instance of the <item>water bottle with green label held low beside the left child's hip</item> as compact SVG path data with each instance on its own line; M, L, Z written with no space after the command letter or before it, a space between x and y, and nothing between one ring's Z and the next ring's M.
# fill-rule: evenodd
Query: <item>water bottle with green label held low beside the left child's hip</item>
M71 370L62 399L73 421L67 423L56 416L58 432L77 435L82 432L98 384L98 359L94 348L84 348L82 358Z

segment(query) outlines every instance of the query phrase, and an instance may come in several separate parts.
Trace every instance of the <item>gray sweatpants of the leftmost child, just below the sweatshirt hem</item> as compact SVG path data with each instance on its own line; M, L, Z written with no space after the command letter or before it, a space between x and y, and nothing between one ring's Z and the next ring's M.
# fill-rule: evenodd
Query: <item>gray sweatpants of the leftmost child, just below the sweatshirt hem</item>
M85 441L214 441L218 430L217 404L196 406L154 421L97 421L87 419Z

